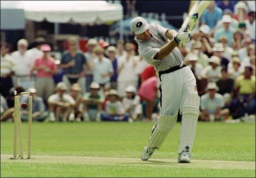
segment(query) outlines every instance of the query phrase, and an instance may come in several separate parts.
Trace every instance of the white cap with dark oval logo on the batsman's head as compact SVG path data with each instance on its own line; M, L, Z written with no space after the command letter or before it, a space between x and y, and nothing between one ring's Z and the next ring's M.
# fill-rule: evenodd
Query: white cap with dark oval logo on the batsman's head
M148 28L149 28L149 24L141 16L137 16L130 21L130 30L135 34L141 34Z

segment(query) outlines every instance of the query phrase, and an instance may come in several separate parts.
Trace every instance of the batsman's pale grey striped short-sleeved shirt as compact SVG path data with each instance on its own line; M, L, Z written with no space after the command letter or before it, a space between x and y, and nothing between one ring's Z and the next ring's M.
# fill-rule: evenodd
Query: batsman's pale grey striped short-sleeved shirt
M154 59L154 55L160 50L160 48L169 42L165 32L169 28L164 28L158 24L151 23L149 25L151 32L150 40L140 40L136 36L135 41L138 43L138 53L145 59L148 64L154 66L154 69L159 72L167 70L171 67L184 64L184 59L179 49L175 47L165 58L162 60Z

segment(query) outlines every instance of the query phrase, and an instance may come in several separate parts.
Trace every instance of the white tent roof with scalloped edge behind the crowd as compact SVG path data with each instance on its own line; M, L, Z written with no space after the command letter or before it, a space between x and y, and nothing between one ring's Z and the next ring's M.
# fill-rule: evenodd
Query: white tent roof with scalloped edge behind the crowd
M24 9L25 19L33 21L100 24L123 18L120 3L104 0L1 0L1 9Z

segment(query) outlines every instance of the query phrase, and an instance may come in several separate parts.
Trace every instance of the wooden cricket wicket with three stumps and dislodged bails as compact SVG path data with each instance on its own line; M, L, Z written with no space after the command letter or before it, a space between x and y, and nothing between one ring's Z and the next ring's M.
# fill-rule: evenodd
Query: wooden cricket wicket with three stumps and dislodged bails
M21 92L20 95L29 95L29 92ZM15 95L15 91L14 91ZM32 96L28 97L28 143L27 143L27 159L31 158L31 125L32 125ZM14 96L14 137L13 137L13 159L17 159L17 129L19 133L19 157L23 159L23 143L22 129L20 119L19 96Z

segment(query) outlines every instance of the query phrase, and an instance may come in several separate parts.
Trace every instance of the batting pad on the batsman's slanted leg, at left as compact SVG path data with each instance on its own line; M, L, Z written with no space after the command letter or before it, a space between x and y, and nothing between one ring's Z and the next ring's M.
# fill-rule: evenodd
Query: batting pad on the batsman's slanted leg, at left
M147 148L159 149L168 135L169 131L174 127L177 121L177 115L174 116L160 116L156 127L154 128Z

